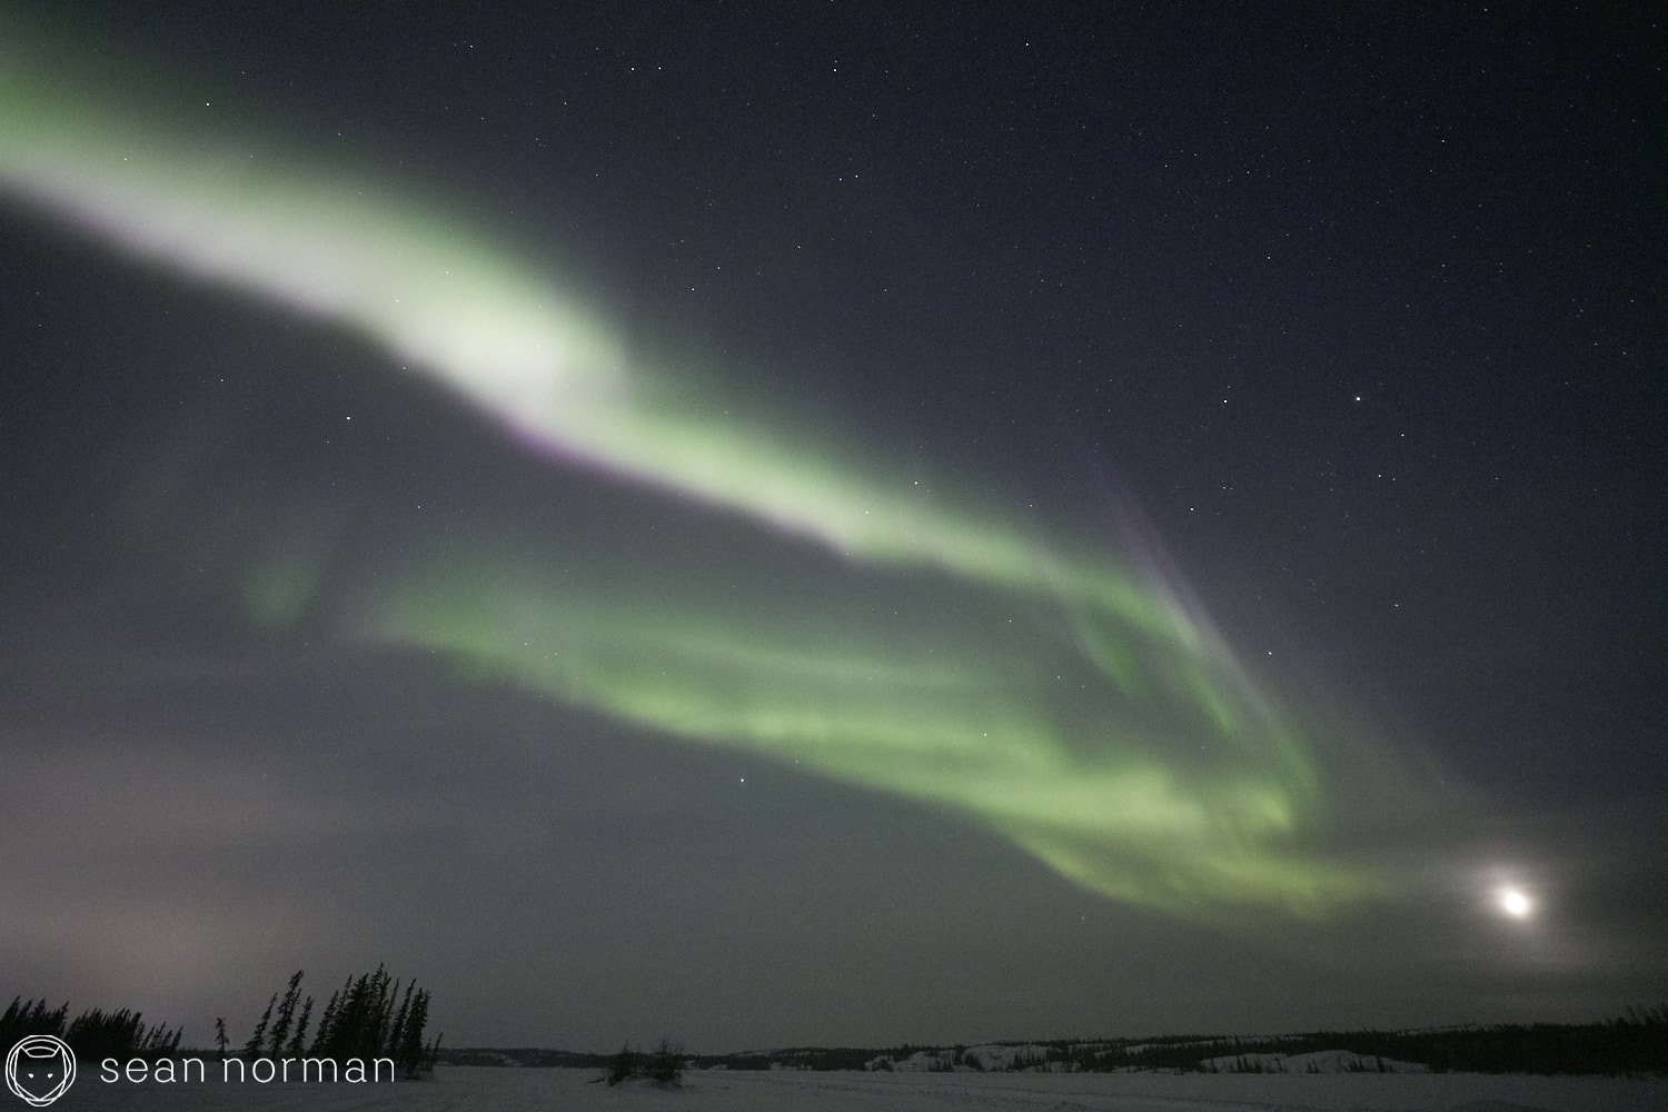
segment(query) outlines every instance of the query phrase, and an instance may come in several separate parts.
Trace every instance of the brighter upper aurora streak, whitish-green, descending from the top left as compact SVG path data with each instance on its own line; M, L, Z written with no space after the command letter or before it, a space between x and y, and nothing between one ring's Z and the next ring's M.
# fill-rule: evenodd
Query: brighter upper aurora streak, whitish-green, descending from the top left
M662 485L834 552L1071 597L1156 634L1186 615L1118 567L1066 562L1002 522L819 458L802 430L727 417L620 345L515 253L385 187L247 137L0 83L0 185L115 243L350 327L554 452ZM42 88L45 85L45 88ZM714 423L717 427L714 428Z

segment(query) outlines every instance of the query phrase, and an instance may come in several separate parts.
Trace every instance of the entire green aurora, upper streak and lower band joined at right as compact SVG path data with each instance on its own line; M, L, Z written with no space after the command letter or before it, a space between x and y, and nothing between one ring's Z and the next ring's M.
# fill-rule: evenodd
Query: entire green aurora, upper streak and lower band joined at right
M173 543L217 562L255 620L327 605L345 637L942 807L1189 920L1318 919L1388 890L1316 849L1339 785L1308 730L1138 562L749 420L629 358L490 235L112 87L0 47L0 188L367 340L490 415L552 483L574 462L626 502L706 507L691 535L776 572L727 589L681 557L689 537L620 560L482 523L445 545L419 535L347 590L337 569L327 592L340 522L239 517L202 490L208 457L153 468L133 517L170 517Z

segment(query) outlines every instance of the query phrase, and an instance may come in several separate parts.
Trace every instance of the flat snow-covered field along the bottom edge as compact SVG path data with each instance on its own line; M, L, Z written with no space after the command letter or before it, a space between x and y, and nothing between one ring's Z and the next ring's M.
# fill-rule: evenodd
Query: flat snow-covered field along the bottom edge
M682 1089L589 1084L594 1070L442 1067L384 1085L105 1085L85 1072L55 1109L415 1112L1660 1112L1668 1079L1481 1074L797 1074L697 1072ZM23 1107L22 1104L18 1107Z

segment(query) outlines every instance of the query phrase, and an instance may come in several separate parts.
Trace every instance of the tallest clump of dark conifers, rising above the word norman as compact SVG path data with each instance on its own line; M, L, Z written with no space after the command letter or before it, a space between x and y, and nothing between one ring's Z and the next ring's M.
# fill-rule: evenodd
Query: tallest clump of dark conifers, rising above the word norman
M319 1025L307 1039L312 1020L314 997L302 999L302 977L295 970L290 982L267 1000L267 1010L249 1035L240 1057L314 1057L335 1059L392 1059L405 1077L420 1077L434 1070L440 1054L440 1037L424 1042L429 1024L429 990L415 980L399 982L385 965L372 974L350 974L342 987L330 994L319 1017ZM227 1055L229 1040L225 1020L215 1020L215 1045L220 1057Z

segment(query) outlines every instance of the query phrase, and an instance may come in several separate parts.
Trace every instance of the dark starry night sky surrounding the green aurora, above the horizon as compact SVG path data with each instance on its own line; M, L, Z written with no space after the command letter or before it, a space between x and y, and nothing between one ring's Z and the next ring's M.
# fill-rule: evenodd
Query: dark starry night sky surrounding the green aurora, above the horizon
M407 487L457 535L529 543L699 507L547 488L360 338L8 195L0 839L32 864L0 904L35 910L0 930L0 989L195 1039L295 965L387 957L450 1042L699 1049L1593 1017L1668 990L1660 20L916 7L18 27L455 205L642 350L879 468L977 475L1089 533L1139 505L1271 690L1451 792L1389 834L1394 799L1373 830L1343 817L1346 854L1426 879L1378 920L1383 957L1341 974L1263 922L1178 927L951 814L325 622L252 627L205 537L267 505L352 518L344 599L417 543L377 508ZM352 408L377 438L324 435ZM135 537L127 478L193 420L198 502ZM1548 902L1505 940L1456 910L1500 870Z

